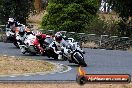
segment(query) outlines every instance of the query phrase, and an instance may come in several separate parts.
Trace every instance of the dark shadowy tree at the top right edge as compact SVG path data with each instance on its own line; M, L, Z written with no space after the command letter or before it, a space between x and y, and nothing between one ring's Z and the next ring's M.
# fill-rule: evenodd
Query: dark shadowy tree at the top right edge
M132 16L132 0L109 0L109 3L121 18L118 24L120 36L130 37L132 34L132 20L129 18Z

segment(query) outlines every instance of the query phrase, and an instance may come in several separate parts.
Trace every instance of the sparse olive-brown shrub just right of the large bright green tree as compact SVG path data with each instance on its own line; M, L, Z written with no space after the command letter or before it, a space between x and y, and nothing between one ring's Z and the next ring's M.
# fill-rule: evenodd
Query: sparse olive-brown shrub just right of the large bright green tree
M97 17L87 25L87 29L87 33L95 33L97 35L119 35L118 21L115 21L113 18L111 18L111 20L106 20L106 18L101 19Z

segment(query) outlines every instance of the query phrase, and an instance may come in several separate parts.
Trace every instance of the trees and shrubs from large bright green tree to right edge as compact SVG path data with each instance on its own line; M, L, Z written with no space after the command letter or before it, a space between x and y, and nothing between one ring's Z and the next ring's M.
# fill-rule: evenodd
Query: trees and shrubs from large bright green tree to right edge
M119 14L119 20L100 19L97 12L101 3L108 11L112 9ZM131 20L128 19L132 13L131 4L130 0L49 0L41 25L47 30L131 36Z

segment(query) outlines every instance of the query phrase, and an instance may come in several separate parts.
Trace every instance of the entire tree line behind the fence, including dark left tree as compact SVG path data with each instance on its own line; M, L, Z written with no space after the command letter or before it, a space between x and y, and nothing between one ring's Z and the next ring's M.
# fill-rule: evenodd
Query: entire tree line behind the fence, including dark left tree
M26 23L34 12L35 1L46 9L41 23L46 30L132 35L132 0L0 0L0 21L5 23L9 17L14 17ZM115 11L120 20L100 19L97 13L101 8Z

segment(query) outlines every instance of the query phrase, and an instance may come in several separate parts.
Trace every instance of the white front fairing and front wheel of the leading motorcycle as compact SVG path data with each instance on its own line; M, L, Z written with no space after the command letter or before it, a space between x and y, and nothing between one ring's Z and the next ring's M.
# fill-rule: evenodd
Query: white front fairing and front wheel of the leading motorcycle
M86 67L87 64L84 61L85 52L80 48L80 45L78 42L75 42L73 38L68 38L66 40L69 45L66 47L63 47L64 53L63 58L69 60L70 63L78 64L79 66Z

